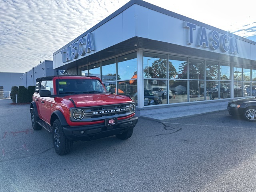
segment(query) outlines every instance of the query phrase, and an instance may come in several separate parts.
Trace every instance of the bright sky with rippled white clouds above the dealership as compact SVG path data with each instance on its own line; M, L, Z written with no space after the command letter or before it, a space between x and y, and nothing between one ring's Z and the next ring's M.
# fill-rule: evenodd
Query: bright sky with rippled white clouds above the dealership
M251 0L144 0L256 42ZM27 72L129 0L0 0L0 72ZM236 2L236 3L234 3Z

